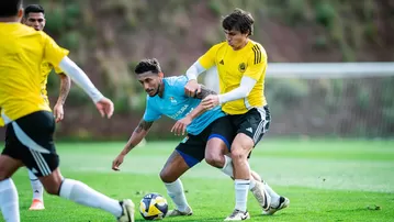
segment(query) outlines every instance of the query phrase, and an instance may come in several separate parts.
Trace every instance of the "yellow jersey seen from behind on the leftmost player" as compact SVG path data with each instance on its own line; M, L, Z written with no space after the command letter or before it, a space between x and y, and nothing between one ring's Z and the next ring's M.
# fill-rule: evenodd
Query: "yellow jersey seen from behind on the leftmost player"
M43 62L57 66L68 55L41 31L0 22L0 109L11 121L50 111L42 95Z

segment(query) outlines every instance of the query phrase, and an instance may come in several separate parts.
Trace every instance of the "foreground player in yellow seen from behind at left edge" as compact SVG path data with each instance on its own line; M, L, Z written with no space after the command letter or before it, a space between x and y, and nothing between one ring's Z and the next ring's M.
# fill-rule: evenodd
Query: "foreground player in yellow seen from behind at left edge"
M93 100L102 116L111 118L113 103L42 31L21 24L22 0L0 1L0 112L8 140L0 155L0 209L7 222L19 222L19 199L12 175L22 166L38 177L45 190L74 202L112 213L117 221L134 221L134 203L117 201L87 185L64 178L53 134L55 119L41 93L42 63L58 66Z

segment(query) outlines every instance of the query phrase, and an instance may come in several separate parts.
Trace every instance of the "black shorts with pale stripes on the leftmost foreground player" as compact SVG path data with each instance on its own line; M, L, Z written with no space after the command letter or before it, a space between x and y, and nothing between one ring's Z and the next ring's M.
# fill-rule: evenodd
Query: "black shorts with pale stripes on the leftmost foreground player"
M2 155L22 160L37 177L48 176L59 166L54 132L52 112L38 111L20 118L7 125Z

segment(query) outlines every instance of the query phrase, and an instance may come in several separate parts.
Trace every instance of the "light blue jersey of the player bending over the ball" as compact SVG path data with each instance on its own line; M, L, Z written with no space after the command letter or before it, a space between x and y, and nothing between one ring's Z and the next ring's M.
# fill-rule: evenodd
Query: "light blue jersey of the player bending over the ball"
M167 115L173 120L181 120L195 109L201 99L190 98L184 95L184 86L188 82L185 76L175 76L162 79L165 91L162 98L147 96L144 121L153 122ZM200 134L207 125L218 118L224 116L221 107L204 112L195 118L187 127L188 133L192 135Z

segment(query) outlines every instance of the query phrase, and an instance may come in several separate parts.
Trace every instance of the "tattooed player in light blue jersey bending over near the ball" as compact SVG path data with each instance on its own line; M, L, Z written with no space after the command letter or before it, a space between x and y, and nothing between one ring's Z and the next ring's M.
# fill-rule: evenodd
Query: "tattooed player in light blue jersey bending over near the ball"
M229 121L228 125L226 121L217 121L225 116L219 107L205 111L200 104L203 98L215 93L214 91L202 86L201 92L195 98L188 97L184 93L188 78L185 76L164 78L160 65L155 58L138 63L135 74L148 95L146 110L124 149L113 160L112 169L120 170L125 155L138 145L153 123L161 115L177 120L171 131L176 134L187 132L188 135L168 158L160 171L160 178L166 185L168 196L176 204L176 209L169 211L167 217L191 215L192 209L185 199L179 177L204 158L210 165L221 168L223 173L233 177L232 159L226 154L235 132ZM217 122L221 124L216 124ZM252 184L250 190L259 203L269 204L269 196L261 180L252 179Z

